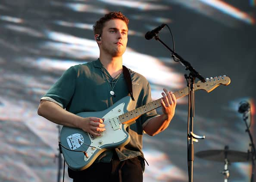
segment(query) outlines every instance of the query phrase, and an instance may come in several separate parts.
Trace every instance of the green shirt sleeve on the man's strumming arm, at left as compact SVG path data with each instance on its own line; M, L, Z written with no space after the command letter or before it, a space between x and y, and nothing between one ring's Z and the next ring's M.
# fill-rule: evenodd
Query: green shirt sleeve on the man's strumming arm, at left
M75 91L76 77L75 68L70 67L62 74L58 81L53 84L53 86L47 91L41 100L50 97L57 103L60 103L63 108L66 108L70 100L72 100Z

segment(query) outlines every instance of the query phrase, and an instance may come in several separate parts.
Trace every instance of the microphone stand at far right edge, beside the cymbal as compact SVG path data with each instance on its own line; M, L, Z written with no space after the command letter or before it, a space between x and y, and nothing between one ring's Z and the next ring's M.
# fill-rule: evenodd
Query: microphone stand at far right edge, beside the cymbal
M252 155L251 158L252 158L252 176L251 176L251 182L254 182L254 171L255 171L255 156L256 156L256 150L255 150L255 145L253 143L253 137L252 137L252 134L250 132L250 129L249 129L249 126L247 124L247 119L248 119L248 115L246 115L246 112L243 113L243 120L245 122L245 125L247 127L247 129L245 130L245 132L248 132L249 134L249 137L250 137L250 140L251 140L251 143L249 144L250 146L250 150L248 150L248 159L250 157L250 154Z

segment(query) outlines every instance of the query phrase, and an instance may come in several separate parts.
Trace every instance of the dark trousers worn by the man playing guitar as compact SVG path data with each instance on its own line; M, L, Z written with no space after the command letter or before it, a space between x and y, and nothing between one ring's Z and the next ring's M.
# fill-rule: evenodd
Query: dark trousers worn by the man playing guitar
M94 163L86 170L71 171L73 182L142 182L144 159L139 157L119 161L114 157L110 163Z

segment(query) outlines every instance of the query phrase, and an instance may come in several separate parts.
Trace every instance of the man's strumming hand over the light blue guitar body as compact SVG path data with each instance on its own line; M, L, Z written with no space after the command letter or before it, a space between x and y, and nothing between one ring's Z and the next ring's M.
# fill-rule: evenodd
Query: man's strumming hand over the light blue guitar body
M101 136L101 132L105 131L104 119L96 117L83 118L79 123L79 128L87 133L91 133L94 137Z

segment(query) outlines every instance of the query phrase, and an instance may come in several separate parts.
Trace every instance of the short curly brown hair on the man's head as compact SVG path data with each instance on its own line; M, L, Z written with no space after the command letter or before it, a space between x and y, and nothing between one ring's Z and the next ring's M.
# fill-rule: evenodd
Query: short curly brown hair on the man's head
M128 27L129 19L125 17L125 15L122 14L122 12L109 12L104 17L100 18L93 26L94 29L94 35L96 34L102 34L102 30L104 27L104 24L112 19L120 19L125 22L125 24Z

